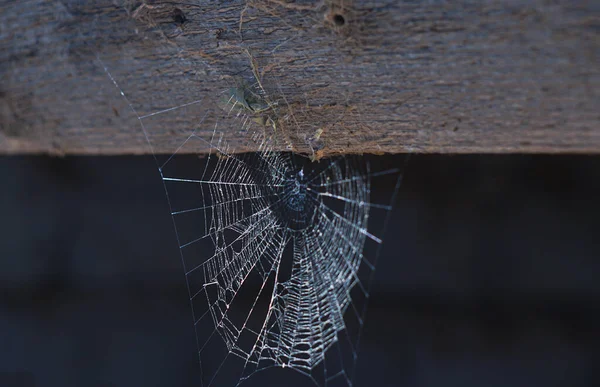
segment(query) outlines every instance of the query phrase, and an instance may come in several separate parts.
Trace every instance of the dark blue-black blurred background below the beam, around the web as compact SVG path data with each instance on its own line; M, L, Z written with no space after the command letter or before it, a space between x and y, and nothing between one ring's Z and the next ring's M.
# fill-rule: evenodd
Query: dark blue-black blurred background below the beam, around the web
M2 157L0 174L0 384L199 386L152 158ZM599 199L597 156L412 156L356 385L600 385ZM310 384L242 384L266 385Z

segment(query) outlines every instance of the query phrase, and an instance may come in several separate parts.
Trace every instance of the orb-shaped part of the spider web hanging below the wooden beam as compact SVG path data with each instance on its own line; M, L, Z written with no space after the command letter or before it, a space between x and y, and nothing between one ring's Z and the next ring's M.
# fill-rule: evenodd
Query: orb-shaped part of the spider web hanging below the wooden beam
M356 157L317 164L213 150L198 177L161 169L204 385L237 385L271 367L351 385L375 270L365 244L382 242L369 216L391 209L370 202L370 179L398 171L371 173Z

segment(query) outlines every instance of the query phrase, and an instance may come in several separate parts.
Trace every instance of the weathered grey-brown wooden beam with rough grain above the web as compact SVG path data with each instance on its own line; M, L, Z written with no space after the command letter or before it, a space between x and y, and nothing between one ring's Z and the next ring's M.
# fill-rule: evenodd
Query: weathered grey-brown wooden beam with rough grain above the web
M157 153L255 150L215 103L242 83L280 149L600 152L598 2L117 3L1 4L0 153L147 153L102 65L139 116L201 101L142 120Z

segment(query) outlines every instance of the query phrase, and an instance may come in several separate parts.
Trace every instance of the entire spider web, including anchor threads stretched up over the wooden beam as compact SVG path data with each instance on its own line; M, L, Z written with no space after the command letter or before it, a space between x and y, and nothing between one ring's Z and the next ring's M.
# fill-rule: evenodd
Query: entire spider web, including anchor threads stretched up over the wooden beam
M223 79L215 101L164 101L160 93L148 101L147 90L129 91L127 76L98 61L141 127L165 186L202 385L239 385L277 367L319 386L351 386L400 169L371 171L358 156L313 162L277 151L293 144L273 118L293 126L306 117L291 112L281 85L257 82L248 69L244 83ZM257 114L261 103L266 115ZM189 130L165 136L169 122ZM246 138L242 150L255 152L231 149L230 136ZM199 151L206 156L186 156ZM372 200L376 179L391 179L388 200Z

